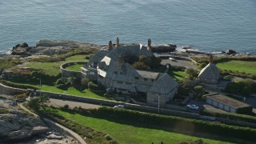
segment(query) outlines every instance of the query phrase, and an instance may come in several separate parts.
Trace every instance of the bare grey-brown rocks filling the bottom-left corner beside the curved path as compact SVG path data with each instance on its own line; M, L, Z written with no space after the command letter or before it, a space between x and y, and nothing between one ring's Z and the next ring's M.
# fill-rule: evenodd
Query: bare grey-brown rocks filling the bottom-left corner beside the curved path
M0 98L0 143L77 143L20 110L11 96Z

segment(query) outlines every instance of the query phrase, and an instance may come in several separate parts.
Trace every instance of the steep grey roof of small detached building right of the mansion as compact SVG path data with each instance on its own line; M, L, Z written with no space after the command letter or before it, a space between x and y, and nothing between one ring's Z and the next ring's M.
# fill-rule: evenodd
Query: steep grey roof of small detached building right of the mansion
M220 70L213 63L209 63L206 67L204 67L198 78L208 78L208 79L218 79Z

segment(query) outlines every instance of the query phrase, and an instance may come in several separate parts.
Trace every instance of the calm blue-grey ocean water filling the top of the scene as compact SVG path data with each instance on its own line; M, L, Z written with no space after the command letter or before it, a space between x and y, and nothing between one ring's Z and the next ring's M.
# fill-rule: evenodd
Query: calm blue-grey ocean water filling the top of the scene
M256 54L255 0L4 0L0 52L41 39L174 43Z

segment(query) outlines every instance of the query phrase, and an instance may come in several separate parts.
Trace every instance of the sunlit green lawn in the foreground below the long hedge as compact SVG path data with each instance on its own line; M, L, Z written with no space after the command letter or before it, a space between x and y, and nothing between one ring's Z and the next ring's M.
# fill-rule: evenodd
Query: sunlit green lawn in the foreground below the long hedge
M71 121L77 122L82 126L89 126L94 130L101 131L105 134L110 134L114 140L123 144L130 143L177 143L181 141L186 141L190 139L200 139L198 137L178 134L174 132L169 132L165 130L157 130L145 128L142 126L130 126L127 124L110 122L105 119L91 118L83 116L80 114L70 114L62 110L58 110L58 114L61 114L65 118ZM201 138L204 142L208 143L228 143L221 142L213 139Z

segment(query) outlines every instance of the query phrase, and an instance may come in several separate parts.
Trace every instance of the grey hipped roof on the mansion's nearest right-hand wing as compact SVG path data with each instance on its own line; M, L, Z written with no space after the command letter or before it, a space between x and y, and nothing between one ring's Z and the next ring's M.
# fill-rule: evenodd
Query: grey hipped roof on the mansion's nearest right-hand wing
M174 81L174 78L171 78L168 74L162 74L153 86L150 88L150 92L158 94L168 94L171 90L174 90L178 86L178 83Z

